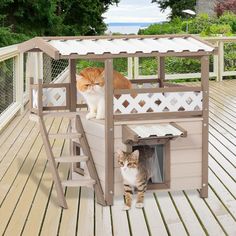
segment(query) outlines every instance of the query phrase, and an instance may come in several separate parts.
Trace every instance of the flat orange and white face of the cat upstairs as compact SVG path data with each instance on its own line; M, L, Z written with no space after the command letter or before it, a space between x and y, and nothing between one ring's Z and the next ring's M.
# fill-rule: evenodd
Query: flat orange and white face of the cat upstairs
M76 86L78 91L85 94L97 94L104 91L103 68L86 68L77 75Z

